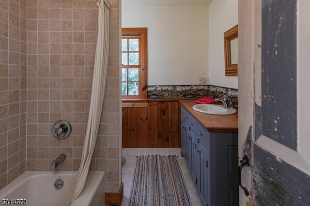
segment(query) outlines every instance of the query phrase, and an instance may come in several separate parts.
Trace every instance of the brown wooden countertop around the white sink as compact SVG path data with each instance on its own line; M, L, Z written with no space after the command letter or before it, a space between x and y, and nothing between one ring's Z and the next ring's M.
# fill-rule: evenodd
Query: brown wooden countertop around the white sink
M209 132L238 132L238 110L234 115L209 115L195 111L195 101L179 101L184 108Z

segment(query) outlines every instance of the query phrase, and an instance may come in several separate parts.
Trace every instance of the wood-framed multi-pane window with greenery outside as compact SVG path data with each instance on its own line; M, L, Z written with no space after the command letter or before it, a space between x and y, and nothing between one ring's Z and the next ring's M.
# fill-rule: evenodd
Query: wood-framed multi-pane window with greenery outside
M123 100L147 99L146 31L146 28L122 28Z

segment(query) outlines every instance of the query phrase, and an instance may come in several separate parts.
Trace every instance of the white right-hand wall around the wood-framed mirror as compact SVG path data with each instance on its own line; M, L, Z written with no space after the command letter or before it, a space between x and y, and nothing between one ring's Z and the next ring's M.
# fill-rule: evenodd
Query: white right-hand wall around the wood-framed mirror
M237 76L225 76L224 32L238 24L238 0L213 0L209 5L210 85L238 88Z

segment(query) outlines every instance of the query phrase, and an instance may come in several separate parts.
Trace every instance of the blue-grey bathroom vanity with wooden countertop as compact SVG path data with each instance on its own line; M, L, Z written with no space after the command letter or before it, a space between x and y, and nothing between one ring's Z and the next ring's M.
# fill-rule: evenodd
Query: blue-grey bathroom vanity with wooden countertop
M238 206L238 114L209 115L179 101L181 151L204 206Z

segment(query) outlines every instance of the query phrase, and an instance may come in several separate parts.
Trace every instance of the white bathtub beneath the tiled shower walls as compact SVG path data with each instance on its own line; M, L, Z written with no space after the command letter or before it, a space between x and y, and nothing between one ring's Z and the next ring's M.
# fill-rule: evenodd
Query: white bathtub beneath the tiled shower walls
M19 199L19 205L65 206L71 180L76 173L77 171L26 171L0 190L0 200L7 201L7 205L10 205L10 201L11 205L17 205L18 202L14 204L13 201ZM62 189L55 189L57 179L63 180ZM90 171L83 191L72 206L105 205L104 188L104 171ZM3 205L2 202L0 204Z

